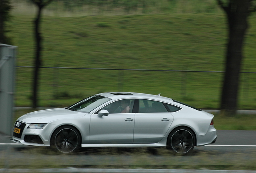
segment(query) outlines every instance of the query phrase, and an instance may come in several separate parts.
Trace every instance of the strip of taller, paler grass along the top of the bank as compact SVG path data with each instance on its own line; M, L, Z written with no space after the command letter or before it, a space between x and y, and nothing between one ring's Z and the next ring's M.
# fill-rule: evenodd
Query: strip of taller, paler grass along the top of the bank
M65 2L63 2L65 1ZM33 14L27 0L12 0L13 14ZM53 1L44 10L47 16L116 16L131 14L220 13L216 0L76 0Z

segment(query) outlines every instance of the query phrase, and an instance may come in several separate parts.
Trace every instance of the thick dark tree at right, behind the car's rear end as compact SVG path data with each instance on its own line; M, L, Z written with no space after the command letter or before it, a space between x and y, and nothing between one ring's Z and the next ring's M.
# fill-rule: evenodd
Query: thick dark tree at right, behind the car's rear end
M227 15L228 40L225 76L221 94L221 114L235 115L239 91L239 73L243 59L243 44L248 29L248 16L256 10L255 0L217 0Z

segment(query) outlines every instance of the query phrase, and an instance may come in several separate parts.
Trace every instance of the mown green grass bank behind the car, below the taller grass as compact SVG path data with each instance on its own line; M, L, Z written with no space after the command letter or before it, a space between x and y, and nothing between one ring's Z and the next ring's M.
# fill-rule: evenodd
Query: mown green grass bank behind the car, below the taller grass
M33 66L31 15L14 15L9 36L17 66ZM250 18L242 71L256 72L256 19ZM227 39L223 14L43 16L43 66L223 71ZM16 106L31 106L32 68L17 68ZM39 107L66 107L109 91L170 97L218 109L223 73L41 68ZM238 109L255 110L256 75L242 74Z

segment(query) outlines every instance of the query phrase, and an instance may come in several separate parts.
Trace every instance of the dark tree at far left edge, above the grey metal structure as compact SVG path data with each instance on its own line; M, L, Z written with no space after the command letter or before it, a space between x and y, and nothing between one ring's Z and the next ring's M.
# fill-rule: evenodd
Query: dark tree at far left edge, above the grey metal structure
M10 38L6 36L6 21L10 19L11 9L10 0L0 0L0 43L11 44Z

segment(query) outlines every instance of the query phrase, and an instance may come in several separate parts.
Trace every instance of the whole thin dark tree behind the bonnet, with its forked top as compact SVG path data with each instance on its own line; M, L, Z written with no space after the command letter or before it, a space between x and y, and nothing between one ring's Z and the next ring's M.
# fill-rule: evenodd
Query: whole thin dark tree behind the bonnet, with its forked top
M41 33L40 33L40 22L42 10L45 6L50 4L54 0L30 0L37 6L37 15L34 22L34 34L35 34L35 70L34 70L34 82L33 82L33 103L32 107L36 108L38 104L38 82L39 82L39 68L41 66Z

